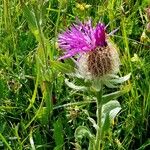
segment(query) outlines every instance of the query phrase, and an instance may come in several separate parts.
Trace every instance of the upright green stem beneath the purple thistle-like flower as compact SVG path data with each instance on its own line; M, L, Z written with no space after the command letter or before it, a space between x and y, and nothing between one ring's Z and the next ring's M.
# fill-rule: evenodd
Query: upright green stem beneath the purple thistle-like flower
M97 93L97 133L96 133L96 150L100 150L100 144L102 141L102 131L101 131L101 118L102 118L102 87L101 90Z

